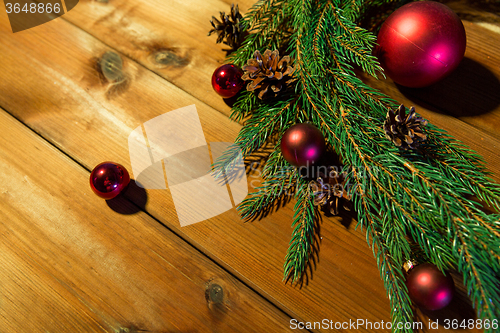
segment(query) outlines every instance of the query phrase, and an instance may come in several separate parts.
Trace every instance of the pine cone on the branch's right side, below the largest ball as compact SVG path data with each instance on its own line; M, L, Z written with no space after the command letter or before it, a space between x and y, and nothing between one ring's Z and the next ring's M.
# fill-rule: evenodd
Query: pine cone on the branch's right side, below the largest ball
M406 109L401 104L394 112L389 109L384 123L386 137L397 147L402 149L416 149L427 139L420 126L427 124L427 120L415 114L415 108L410 108L410 113L406 115Z

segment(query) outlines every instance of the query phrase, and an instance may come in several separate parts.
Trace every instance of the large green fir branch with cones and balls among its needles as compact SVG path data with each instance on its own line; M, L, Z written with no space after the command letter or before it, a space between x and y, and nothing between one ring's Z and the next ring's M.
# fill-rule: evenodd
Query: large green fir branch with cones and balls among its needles
M215 163L227 172L235 154L246 157L273 139L280 142L294 122L311 121L350 170L348 182L366 229L368 244L384 281L392 321L411 322L401 265L414 253L407 236L441 270L457 267L479 317L494 319L500 309L500 216L486 214L476 196L500 210L500 186L484 161L446 132L429 124L420 151L401 151L385 138L387 108L397 103L356 77L353 64L381 73L371 55L375 36L360 28L368 8L407 0L259 1L243 20L248 36L229 60L242 65L253 52L287 47L298 79L282 100L260 101L244 93L232 119L245 120L235 146ZM263 169L264 181L238 207L252 218L295 191L295 215L284 278L297 281L314 252L317 211L307 181L289 168L278 144ZM294 171L295 170L295 171Z

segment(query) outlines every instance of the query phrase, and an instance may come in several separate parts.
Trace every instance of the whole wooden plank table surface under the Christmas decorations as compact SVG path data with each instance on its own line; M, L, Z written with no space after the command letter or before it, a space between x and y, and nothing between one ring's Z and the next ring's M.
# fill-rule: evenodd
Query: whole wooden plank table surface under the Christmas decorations
M232 209L180 227L168 189L131 186L111 203L92 193L92 168L111 160L130 170L129 134L163 113L195 104L208 142L235 138L241 125L210 84L225 52L206 36L230 3L81 0L15 34L0 7L1 333L288 332L301 331L293 319L390 321L375 259L347 216L323 219L319 262L300 288L282 282L293 203L258 221ZM447 3L468 35L450 77L425 89L366 80L478 151L500 181L498 12ZM242 12L252 4L239 2ZM123 60L120 84L96 70L107 51ZM207 297L213 285L220 303ZM459 287L448 308L416 319L425 332L445 332L429 320L470 318Z

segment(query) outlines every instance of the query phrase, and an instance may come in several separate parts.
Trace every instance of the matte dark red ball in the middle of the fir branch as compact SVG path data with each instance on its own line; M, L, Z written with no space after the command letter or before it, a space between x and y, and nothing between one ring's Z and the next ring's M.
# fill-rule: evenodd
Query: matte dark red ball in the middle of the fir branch
M296 124L281 138L281 153L288 163L297 167L315 163L325 151L325 138L311 124Z

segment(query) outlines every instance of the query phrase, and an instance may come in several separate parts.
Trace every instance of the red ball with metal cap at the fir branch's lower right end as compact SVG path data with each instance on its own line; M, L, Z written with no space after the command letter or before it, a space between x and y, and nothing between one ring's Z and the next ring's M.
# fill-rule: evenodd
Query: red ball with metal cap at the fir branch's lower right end
M433 264L425 263L412 268L406 277L410 299L426 310L439 310L447 306L455 293L450 274L446 276Z

